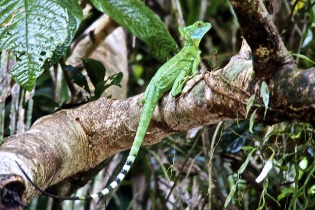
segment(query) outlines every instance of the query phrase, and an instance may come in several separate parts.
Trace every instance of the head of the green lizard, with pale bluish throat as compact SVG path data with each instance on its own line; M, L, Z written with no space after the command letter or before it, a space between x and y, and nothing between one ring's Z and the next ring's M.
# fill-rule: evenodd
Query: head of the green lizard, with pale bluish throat
M198 48L202 37L211 29L211 23L205 23L202 21L197 21L194 24L179 28L182 37L188 41L194 43L196 48Z

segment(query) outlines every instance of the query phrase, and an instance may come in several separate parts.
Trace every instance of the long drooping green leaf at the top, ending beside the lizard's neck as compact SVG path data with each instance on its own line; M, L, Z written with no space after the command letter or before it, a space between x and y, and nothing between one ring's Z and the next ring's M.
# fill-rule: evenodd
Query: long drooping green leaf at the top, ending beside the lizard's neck
M165 61L178 46L161 19L140 0L92 0L95 8L108 14L141 39L153 56Z

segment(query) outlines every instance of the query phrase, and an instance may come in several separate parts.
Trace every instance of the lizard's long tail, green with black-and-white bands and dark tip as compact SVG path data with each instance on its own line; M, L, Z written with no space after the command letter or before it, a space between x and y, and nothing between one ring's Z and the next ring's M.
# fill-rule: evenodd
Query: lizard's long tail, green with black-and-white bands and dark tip
M147 132L149 123L151 121L151 118L153 116L154 110L158 104L159 98L163 95L163 93L158 94L156 91L150 92L150 94L147 94L145 103L143 106L142 114L140 117L140 122L138 125L138 129L136 132L136 135L134 137L134 141L132 143L132 147L130 149L129 155L127 157L127 160L125 162L125 165L119 175L116 177L116 179L111 182L106 188L103 190L99 191L98 193L91 194L91 195L85 195L85 196L75 196L75 197L67 197L67 196L57 196L48 192L45 192L44 190L40 189L39 187L36 186L35 183L32 182L32 180L27 176L27 174L24 172L22 167L18 164L20 169L22 170L23 174L26 176L26 178L32 183L32 185L43 195L50 196L54 199L59 199L59 200L92 200L95 198L102 197L106 194L108 194L111 190L113 190L117 185L124 180L126 174L130 170L130 167L132 163L134 162L138 151L141 147L142 141L144 139L144 136Z

